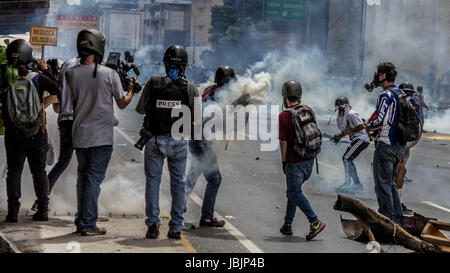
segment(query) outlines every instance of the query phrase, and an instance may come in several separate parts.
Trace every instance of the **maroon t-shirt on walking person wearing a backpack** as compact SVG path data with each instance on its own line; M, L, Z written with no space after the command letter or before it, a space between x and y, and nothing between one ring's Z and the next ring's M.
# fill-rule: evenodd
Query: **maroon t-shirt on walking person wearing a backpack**
M296 108L298 106L299 105L294 105L289 108ZM292 114L289 111L281 112L278 117L278 138L280 139L280 141L287 141L287 150L285 158L285 162L287 164L298 163L304 160L308 160L301 158L300 155L294 150L295 130L294 130L294 123L292 122Z

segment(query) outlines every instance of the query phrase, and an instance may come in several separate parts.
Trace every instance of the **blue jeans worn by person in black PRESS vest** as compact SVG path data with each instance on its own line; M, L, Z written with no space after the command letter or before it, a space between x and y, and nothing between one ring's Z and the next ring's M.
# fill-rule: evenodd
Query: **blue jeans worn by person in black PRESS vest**
M174 140L170 135L152 137L145 145L145 224L161 225L159 219L159 187L164 159L170 172L170 194L172 206L170 209L169 229L173 232L181 232L183 229L183 207L185 201L185 182L187 159L187 141Z

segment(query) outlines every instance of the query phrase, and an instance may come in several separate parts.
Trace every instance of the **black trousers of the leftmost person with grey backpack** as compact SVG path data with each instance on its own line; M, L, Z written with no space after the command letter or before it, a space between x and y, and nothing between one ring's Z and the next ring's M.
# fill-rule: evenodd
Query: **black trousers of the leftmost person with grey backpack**
M33 177L34 192L38 199L38 209L47 210L48 206L48 178L45 172L48 142L47 133L39 130L35 136L20 138L14 127L5 132L6 163L6 191L8 195L8 210L16 214L20 208L21 180L25 159L28 160Z

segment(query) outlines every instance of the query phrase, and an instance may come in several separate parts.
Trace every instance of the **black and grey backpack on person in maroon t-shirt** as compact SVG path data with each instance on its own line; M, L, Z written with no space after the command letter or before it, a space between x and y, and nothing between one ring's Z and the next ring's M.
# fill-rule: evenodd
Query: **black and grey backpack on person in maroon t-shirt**
M322 132L317 126L314 113L307 106L289 108L294 124L294 151L301 158L313 159L320 153L322 145Z

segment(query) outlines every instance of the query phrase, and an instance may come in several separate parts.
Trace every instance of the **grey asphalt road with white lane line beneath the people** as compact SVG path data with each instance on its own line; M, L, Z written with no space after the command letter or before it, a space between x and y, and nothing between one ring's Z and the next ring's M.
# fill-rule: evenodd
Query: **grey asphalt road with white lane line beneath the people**
M102 214L144 213L145 176L143 155L132 143L138 138L142 117L135 113L134 104L124 111L116 110L119 126L115 130L114 154L108 175L102 185L100 211ZM335 124L320 122L322 132L333 135ZM49 114L49 134L58 143L55 115ZM434 140L425 135L412 151L407 176L413 183L405 185L405 203L414 211L427 217L450 222L450 141ZM56 145L57 146L57 145ZM341 156L347 144L331 144L324 139L319 156L319 174L314 173L303 190L319 218L327 224L325 230L313 241L307 242L309 230L306 217L298 210L293 224L294 235L283 236L279 228L286 207L285 178L281 171L279 151L261 152L257 141L231 141L224 151L225 141L216 141L214 149L222 173L222 185L217 196L216 212L227 220L225 228L198 228L201 198L205 180L201 177L194 194L188 200L184 234L197 252L365 252L366 245L354 242L344 235L339 217L345 215L333 210L337 194L334 187L343 181ZM57 152L57 147L55 147ZM371 177L370 162L374 147L361 154L356 165L365 191L358 197L377 209ZM1 145L0 166L4 164L4 147ZM3 168L2 168L3 169ZM23 179L24 207L31 206L33 190L31 178L25 167ZM75 210L76 160L55 187L51 199L53 211ZM0 207L5 207L4 182L0 184ZM424 202L432 202L424 203ZM439 207L440 206L440 207ZM167 175L161 183L162 215L170 207ZM144 224L144 223L142 223ZM389 252L408 250L388 245Z

